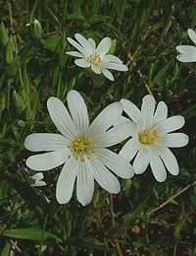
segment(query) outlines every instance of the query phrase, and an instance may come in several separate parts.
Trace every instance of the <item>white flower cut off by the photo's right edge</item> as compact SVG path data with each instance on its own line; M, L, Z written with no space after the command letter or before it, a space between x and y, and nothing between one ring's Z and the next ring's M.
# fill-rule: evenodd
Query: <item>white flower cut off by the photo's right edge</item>
M188 30L188 35L191 40L196 44L196 32ZM196 46L192 45L179 45L176 50L180 53L177 59L181 62L194 62L196 61Z

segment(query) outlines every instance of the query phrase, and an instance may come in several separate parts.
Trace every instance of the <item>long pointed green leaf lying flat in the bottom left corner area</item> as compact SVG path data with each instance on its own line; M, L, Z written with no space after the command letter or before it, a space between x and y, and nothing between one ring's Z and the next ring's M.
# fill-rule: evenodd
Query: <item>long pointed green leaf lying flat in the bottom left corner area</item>
M44 231L40 228L30 228L30 227L25 227L25 228L15 228L15 229L6 229L2 235L4 236L9 236L13 238L19 238L19 239L26 239L26 240L35 240L35 241L40 241L40 240L48 240L48 239L53 239L58 242L61 242L62 239L59 238L57 235Z

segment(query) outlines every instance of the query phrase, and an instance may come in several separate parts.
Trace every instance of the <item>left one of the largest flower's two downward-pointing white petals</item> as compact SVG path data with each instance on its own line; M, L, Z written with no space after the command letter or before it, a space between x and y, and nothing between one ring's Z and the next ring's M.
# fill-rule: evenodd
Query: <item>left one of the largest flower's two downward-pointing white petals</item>
M67 204L71 200L77 170L76 160L73 158L64 164L56 187L56 198L59 204Z

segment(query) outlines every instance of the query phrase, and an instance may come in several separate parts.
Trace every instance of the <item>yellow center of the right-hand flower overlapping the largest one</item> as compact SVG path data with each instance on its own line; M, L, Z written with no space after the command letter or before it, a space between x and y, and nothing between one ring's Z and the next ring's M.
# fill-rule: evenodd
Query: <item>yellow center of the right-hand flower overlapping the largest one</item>
M145 145L154 145L158 139L158 131L153 128L146 128L138 133L140 143Z

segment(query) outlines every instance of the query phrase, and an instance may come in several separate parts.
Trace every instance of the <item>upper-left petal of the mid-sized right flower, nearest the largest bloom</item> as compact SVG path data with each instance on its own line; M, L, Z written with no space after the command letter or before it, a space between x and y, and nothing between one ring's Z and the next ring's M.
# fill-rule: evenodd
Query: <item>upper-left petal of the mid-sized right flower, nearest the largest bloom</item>
M142 115L139 108L127 99L122 99L123 111L135 122L140 124L142 122Z

